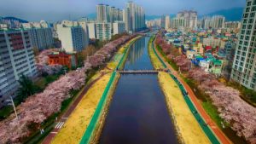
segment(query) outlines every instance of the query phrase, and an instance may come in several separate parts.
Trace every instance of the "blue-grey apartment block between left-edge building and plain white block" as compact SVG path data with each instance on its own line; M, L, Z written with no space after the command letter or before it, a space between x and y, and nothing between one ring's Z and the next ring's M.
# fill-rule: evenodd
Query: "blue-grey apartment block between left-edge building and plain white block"
M22 26L29 31L33 48L44 50L53 45L53 32L45 21L23 23Z

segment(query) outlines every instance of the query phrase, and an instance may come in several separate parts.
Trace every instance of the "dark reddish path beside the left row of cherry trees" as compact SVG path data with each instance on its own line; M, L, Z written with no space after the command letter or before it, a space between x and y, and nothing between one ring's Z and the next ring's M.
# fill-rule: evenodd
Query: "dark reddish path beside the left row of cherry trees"
M78 106L79 104L79 101L82 100L83 96L85 95L85 93L87 92L88 89L90 89L90 86L95 84L100 78L102 78L105 74L107 74L108 72L102 72L101 76L96 78L94 81L92 81L90 84L86 85L83 89L83 91L80 93L79 97L73 102L73 104L68 108L67 112L65 112L59 122L56 124L59 124L61 122L65 122L67 120L67 118L70 116L70 114L73 112L73 110L75 109L75 107ZM44 141L42 142L42 144L49 144L53 138L55 137L55 135L59 132L59 130L61 129L58 129L55 127L54 130L51 130L51 132L49 133L49 135L47 135L45 138L44 138Z

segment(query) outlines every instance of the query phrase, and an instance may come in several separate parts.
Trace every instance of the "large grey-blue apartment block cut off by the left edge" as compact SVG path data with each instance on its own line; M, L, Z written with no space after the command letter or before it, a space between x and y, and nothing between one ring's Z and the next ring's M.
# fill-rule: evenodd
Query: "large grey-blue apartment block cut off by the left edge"
M0 31L0 107L9 96L15 95L21 75L37 75L29 32Z

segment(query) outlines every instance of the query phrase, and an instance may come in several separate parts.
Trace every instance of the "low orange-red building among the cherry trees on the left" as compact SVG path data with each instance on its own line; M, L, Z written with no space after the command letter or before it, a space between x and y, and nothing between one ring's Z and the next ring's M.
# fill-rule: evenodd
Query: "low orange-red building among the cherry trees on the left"
M49 65L62 65L67 66L68 68L73 68L78 65L77 56L73 53L65 52L54 52L49 56L48 63Z

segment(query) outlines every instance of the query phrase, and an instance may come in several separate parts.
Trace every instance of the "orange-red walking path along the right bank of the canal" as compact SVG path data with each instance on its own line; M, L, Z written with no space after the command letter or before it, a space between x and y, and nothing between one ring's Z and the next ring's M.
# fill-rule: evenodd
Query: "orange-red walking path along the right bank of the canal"
M220 143L223 143L223 144L230 144L232 143L230 141L230 139L224 135L224 133L218 128L217 124L215 124L212 120L212 118L210 118L210 116L207 114L207 112L203 109L203 107L201 106L200 102L197 101L197 98L193 92L193 90L189 87L189 85L183 81L183 78L181 78L178 74L177 71L175 71L172 66L166 62L166 60L164 60L163 56L160 55L160 52L158 51L158 49L155 49L155 45L154 45L154 41L152 42L152 45L153 45L153 49L154 49L154 52L156 55L158 55L158 58L160 59L160 61L162 62L162 64L164 66L166 66L166 68L168 68L171 72L172 72L172 75L174 77L177 78L177 80L183 84L183 87L184 89L187 91L188 93L188 96L190 98L190 100L193 102L197 112L200 113L201 117L204 119L204 121L206 122L207 126L212 130L213 134L215 136L217 136L218 138L218 141Z

